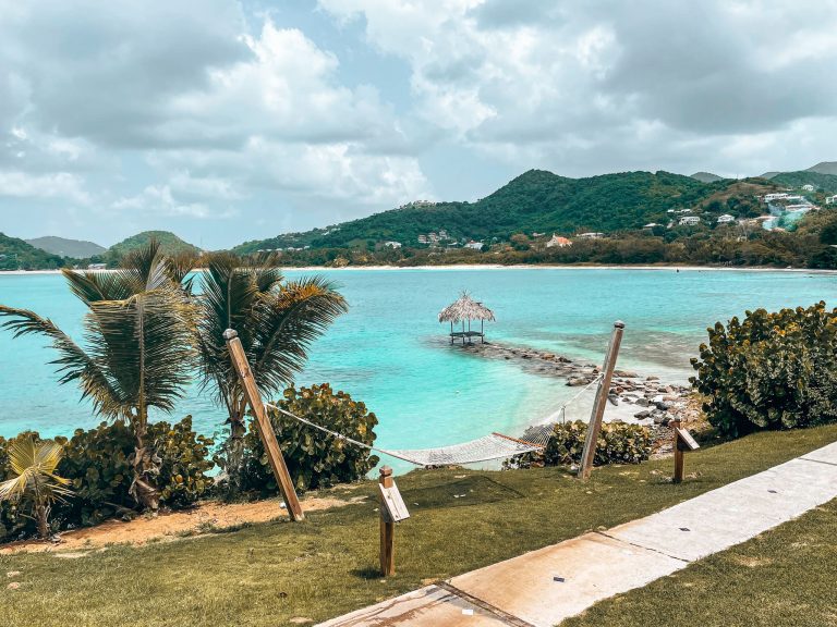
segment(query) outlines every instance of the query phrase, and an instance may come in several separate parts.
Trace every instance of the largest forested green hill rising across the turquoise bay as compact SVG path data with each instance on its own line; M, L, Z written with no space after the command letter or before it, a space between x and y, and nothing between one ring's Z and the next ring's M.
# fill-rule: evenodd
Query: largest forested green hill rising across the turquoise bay
M477 202L408 205L304 233L246 242L240 254L272 248L345 248L383 241L415 246L418 236L445 230L462 238L508 239L514 233L611 233L666 222L668 209L691 208L727 189L735 181L703 183L669 172L623 172L568 179L543 170L521 174ZM775 187L766 181L764 189Z

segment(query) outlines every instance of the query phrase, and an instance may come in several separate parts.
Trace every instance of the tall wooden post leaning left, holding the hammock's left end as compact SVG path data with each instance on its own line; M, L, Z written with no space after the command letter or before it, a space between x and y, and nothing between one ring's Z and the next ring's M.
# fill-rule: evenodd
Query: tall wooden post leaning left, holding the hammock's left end
M282 493L282 500L288 508L288 514L291 520L300 521L305 519L305 514L302 512L302 505L296 496L296 491L293 489L293 481L291 475L288 472L288 466L284 464L284 457L282 457L282 451L279 448L279 443L276 441L276 433L274 427L270 425L270 419L265 411L265 406L262 403L262 395L258 393L256 386L256 380L253 378L253 372L250 369L247 362L247 356L244 354L244 347L241 345L239 334L232 329L227 329L223 332L223 339L227 341L227 348L230 352L230 359L235 368L235 372L239 374L239 381L244 390L244 396L247 398L253 414L256 416L256 428L258 434L262 438L262 443L265 445L265 452L267 458L270 460L270 467L274 469L274 476L276 477L279 489Z

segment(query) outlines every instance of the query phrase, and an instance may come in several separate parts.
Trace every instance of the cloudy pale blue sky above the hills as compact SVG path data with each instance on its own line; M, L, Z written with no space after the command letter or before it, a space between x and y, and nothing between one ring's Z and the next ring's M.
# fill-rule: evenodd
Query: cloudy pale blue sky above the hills
M837 160L837 0L0 0L0 231L207 248L530 168Z

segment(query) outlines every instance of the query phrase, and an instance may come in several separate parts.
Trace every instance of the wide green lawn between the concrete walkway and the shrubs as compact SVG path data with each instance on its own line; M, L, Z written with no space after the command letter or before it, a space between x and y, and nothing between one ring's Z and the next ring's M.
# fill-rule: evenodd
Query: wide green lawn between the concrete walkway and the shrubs
M4 580L19 581L19 589L0 586L0 624L221 627L322 620L640 518L835 440L837 426L830 426L705 447L687 457L687 474L695 476L680 485L668 481L670 459L596 469L586 484L557 468L413 472L398 479L412 518L396 530L398 574L386 581L376 573L374 482L332 491L368 494L367 503L313 513L304 524L277 521L138 549L110 546L74 560L0 556L0 577L21 571ZM809 582L799 577L793 585Z

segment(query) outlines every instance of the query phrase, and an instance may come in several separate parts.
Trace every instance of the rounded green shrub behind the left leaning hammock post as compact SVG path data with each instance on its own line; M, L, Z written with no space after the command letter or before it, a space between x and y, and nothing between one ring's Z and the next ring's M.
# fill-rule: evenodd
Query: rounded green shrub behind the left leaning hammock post
M372 444L375 441L374 428L378 423L375 414L367 411L366 405L353 401L349 394L335 393L328 383L299 390L289 388L276 405L360 442ZM299 491L356 481L378 463L378 458L369 455L368 450L313 429L278 411L270 411L270 421ZM225 467L222 458L218 462ZM240 474L238 481L244 492L262 495L278 492L262 440L252 421L244 437L244 462Z

